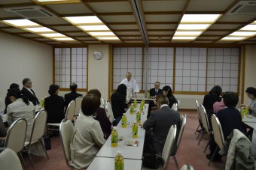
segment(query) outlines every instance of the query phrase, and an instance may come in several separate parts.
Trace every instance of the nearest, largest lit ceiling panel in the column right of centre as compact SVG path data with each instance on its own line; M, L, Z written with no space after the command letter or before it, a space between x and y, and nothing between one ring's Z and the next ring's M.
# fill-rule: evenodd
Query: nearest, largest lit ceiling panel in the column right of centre
M220 14L184 14L181 19L183 22L215 22Z

